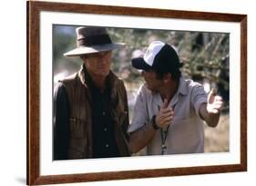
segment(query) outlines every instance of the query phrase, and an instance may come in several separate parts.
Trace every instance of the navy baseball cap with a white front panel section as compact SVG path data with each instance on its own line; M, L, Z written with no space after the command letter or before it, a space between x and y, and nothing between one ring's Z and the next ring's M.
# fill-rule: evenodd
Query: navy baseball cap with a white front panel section
M149 44L144 56L133 58L131 64L139 70L154 70L159 73L173 73L183 65L174 48L160 41Z

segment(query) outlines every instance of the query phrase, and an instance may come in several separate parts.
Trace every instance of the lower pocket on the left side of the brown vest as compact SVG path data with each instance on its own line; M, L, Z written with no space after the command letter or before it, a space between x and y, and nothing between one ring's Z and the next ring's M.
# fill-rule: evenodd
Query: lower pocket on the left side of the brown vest
M83 138L85 136L86 122L77 118L69 118L69 129L71 138Z

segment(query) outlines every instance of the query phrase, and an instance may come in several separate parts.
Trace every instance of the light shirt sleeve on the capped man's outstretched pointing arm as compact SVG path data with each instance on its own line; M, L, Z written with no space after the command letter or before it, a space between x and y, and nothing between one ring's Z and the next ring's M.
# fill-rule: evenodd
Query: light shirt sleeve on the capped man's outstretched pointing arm
M202 85L198 84L193 88L191 101L198 116L200 116L200 105L207 103L207 93Z

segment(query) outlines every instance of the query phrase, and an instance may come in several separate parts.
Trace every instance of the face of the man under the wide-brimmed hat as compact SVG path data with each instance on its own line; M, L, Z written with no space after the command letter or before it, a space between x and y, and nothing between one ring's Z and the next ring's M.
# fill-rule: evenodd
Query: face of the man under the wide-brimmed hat
M100 52L96 54L86 54L82 56L87 66L87 71L92 75L106 77L111 65L111 51Z

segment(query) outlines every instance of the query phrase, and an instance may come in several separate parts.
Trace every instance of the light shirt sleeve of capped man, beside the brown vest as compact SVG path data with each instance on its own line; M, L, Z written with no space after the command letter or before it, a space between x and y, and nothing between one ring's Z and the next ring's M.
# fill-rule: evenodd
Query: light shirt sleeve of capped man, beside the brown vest
M132 121L128 126L128 132L135 132L148 122L147 93L144 86L138 90L138 95L133 109Z

